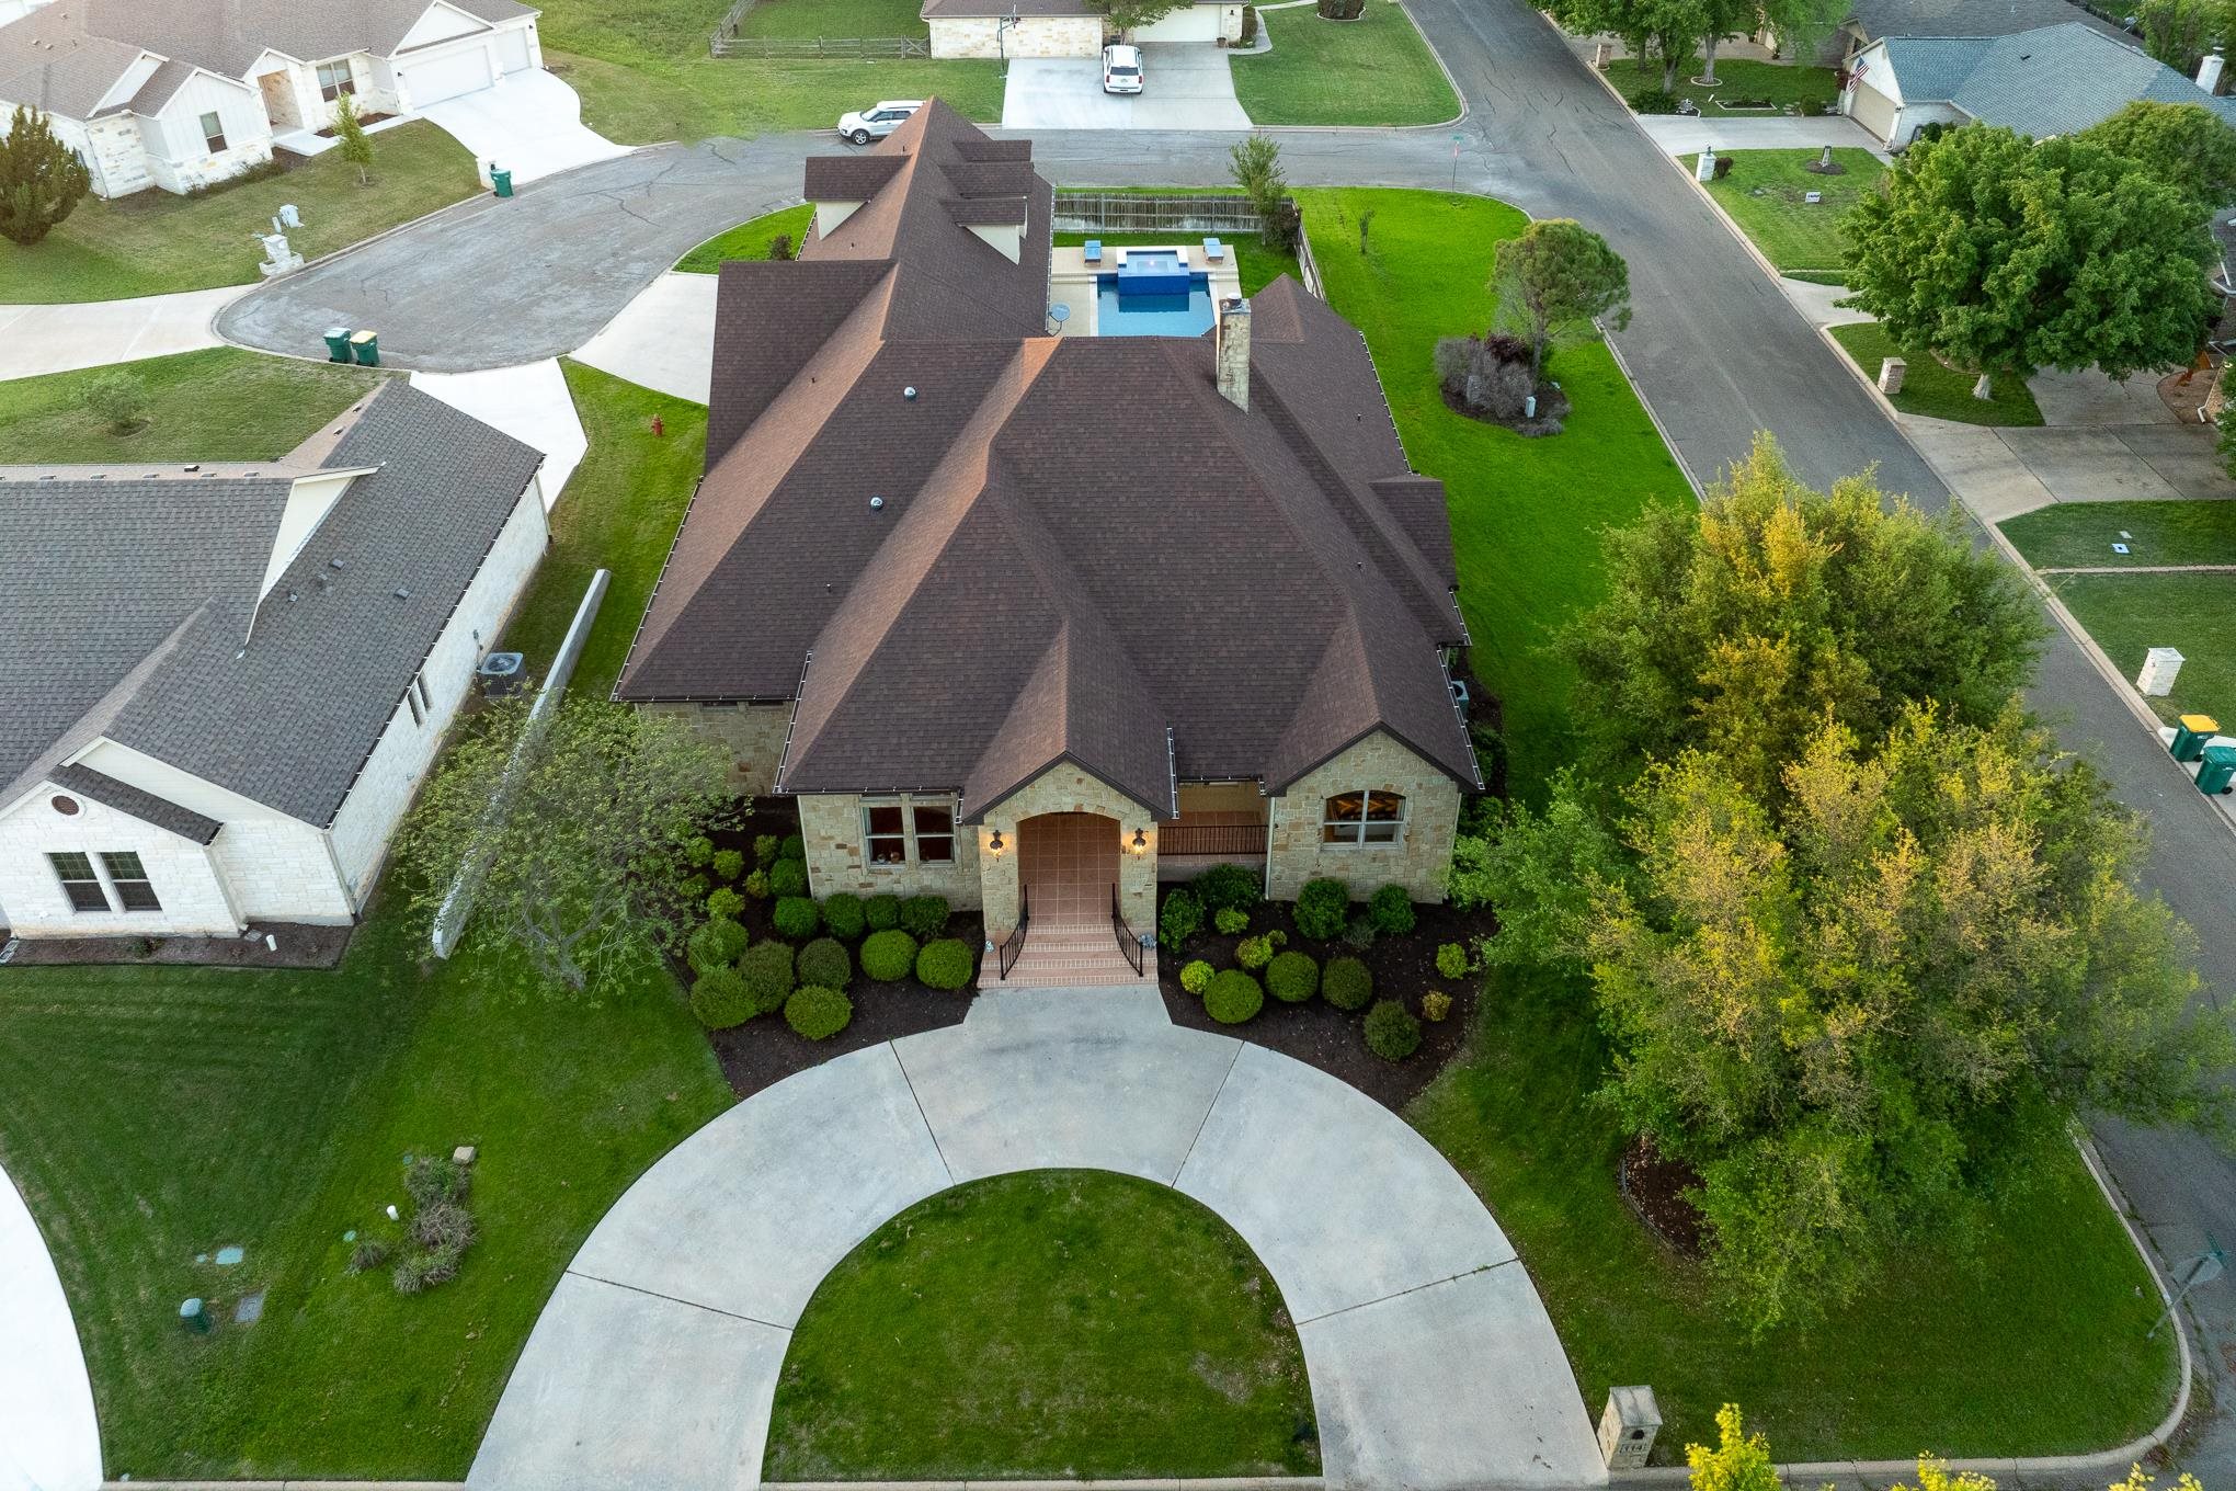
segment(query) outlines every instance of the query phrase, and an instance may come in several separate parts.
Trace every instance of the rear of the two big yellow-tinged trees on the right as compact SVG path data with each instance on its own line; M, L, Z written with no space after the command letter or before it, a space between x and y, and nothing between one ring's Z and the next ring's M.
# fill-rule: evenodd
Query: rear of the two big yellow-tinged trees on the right
M1963 519L1930 519L1867 476L1813 492L1771 436L1699 507L1605 539L1608 599L1561 637L1585 760L1623 780L1715 751L1773 798L1831 718L1880 735L1918 700L1992 720L2026 684L2041 612Z

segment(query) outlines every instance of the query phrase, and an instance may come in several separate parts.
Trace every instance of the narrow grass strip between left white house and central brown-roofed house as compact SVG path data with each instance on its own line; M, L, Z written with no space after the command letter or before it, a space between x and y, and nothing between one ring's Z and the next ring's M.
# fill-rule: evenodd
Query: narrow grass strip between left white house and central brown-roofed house
M561 367L581 429L590 436L590 454L552 507L552 550L512 612L501 646L523 653L528 666L541 673L559 650L590 574L613 570L568 684L572 693L606 697L628 659L628 644L707 460L707 405L655 393L581 362L566 360ZM653 418L666 434L653 434Z

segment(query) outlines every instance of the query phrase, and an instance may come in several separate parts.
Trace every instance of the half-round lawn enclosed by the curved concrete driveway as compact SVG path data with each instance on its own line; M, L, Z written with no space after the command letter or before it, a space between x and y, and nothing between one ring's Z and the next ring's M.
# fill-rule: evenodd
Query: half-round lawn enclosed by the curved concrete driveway
M1317 1471L1297 1328L1250 1247L1163 1185L1058 1169L932 1196L832 1270L765 1475Z

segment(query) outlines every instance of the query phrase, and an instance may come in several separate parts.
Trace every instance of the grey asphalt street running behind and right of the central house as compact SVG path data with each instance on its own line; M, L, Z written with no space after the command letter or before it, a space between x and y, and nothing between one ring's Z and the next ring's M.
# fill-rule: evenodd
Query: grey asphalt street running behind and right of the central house
M1292 183L1458 183L1541 217L1576 217L1630 262L1632 320L1614 346L1697 481L1769 429L1811 483L1876 467L1885 490L1948 505L1901 429L1543 18L1523 0L1411 7L1467 118L1281 130ZM1040 132L1033 159L1062 186L1223 183L1234 139ZM432 371L566 353L693 244L794 201L800 161L832 148L827 136L709 141L537 181L514 201L479 199L262 288L230 306L219 331L311 355L329 324L373 326L389 360ZM2147 879L2198 930L2205 997L2236 990L2236 834L2064 633L2046 646L2033 704L2149 816ZM2100 1145L2169 1265L2207 1236L2236 1243L2236 1160L2194 1136L2120 1122L2100 1124ZM2202 1366L2218 1399L2236 1404L2236 1279L2198 1290L2191 1305ZM2207 1484L2236 1478L2236 1417L2200 1424L2182 1460Z

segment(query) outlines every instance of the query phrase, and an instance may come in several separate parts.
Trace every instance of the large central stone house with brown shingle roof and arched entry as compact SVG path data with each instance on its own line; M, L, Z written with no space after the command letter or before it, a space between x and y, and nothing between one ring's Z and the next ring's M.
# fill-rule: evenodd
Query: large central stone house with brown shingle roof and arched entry
M798 798L816 894L993 939L1116 957L1114 905L1149 932L1219 861L1442 901L1467 630L1364 340L1286 277L1051 335L1031 150L928 103L807 161L798 262L722 266L707 476L615 697Z

